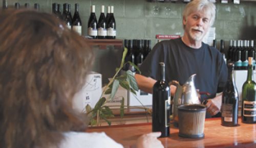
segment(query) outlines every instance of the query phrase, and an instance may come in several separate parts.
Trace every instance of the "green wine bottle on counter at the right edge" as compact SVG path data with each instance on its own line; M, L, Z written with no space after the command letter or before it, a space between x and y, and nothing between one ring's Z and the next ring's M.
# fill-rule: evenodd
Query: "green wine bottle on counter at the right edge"
M253 81L252 57L248 58L247 79L242 88L242 122L256 123L256 83Z

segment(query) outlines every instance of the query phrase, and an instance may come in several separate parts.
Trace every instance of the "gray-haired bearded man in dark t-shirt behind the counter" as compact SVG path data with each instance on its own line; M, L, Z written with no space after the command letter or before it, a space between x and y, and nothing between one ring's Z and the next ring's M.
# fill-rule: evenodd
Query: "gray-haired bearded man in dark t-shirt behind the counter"
M201 102L208 100L207 116L220 112L221 95L227 81L227 67L223 56L214 47L202 42L215 20L216 7L207 0L188 3L183 12L184 35L181 38L157 43L140 66L141 74L135 78L141 90L152 93L156 80L160 80L159 62L165 63L165 79L183 85L189 76L197 74L195 86L210 95L201 95ZM176 86L170 85L171 95Z

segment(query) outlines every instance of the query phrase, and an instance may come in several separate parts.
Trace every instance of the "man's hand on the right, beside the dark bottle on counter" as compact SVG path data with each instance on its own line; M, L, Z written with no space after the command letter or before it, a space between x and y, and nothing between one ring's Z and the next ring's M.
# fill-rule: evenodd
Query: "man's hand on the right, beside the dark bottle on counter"
M215 98L209 99L206 107L207 112L210 113L211 116L216 115L221 111L221 103L222 103L222 93L218 94Z

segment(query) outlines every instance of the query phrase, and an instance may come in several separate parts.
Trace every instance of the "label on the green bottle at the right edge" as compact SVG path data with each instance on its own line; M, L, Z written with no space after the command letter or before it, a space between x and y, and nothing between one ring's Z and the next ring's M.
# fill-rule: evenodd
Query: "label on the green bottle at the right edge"
M244 101L243 114L245 117L256 116L256 101Z

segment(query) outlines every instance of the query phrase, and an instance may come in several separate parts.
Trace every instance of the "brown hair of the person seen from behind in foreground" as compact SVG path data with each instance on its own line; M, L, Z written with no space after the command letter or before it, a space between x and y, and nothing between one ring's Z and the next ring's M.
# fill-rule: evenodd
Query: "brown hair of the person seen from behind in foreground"
M52 14L5 9L0 22L0 147L58 147L87 127L72 100L93 51Z

